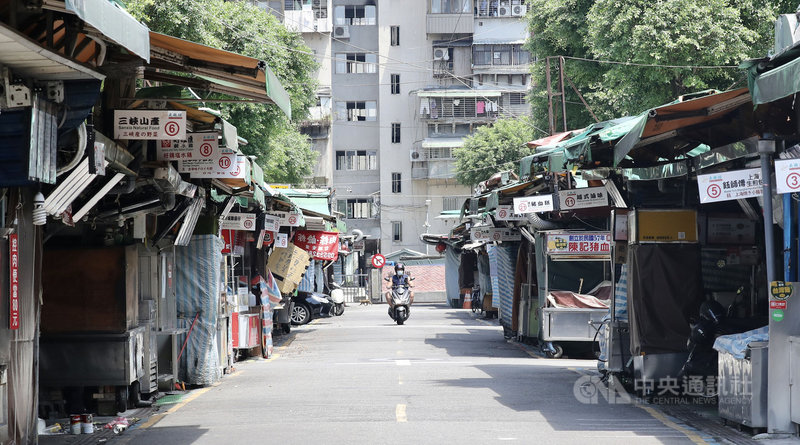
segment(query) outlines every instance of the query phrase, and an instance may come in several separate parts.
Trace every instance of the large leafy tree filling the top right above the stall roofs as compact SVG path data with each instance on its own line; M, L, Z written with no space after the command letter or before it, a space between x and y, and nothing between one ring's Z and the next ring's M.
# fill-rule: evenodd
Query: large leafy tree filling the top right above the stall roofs
M601 120L638 114L678 96L741 86L735 66L772 45L785 0L530 0L528 48L538 58L530 95L537 126L548 127L545 58L565 56L565 74ZM572 57L623 62L607 64ZM557 59L551 59L557 66ZM671 65L692 68L668 68ZM557 70L551 74L557 76ZM557 80L553 80L556 88ZM593 118L567 84L568 128ZM558 98L555 104L560 108ZM560 113L556 128L561 129Z

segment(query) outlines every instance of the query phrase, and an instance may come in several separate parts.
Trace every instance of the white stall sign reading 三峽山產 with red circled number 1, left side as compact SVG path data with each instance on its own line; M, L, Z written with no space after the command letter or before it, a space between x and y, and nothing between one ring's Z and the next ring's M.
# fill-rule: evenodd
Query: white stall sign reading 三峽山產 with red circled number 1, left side
M186 111L114 110L114 139L186 139Z

